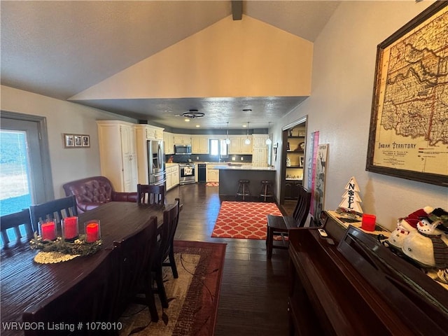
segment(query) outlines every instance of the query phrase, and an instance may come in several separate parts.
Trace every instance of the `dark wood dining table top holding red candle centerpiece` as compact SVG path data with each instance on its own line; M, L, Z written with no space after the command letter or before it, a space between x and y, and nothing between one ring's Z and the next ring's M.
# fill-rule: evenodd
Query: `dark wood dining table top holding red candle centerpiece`
M143 228L151 216L163 223L164 205L133 202L108 202L79 215L80 233L86 221L99 219L102 248L94 255L77 257L56 264L38 264L38 251L29 247L29 241L1 248L1 335L24 335L11 323L22 322L22 314L36 302L48 300L60 291L71 288L92 272L112 251L113 241L119 241Z

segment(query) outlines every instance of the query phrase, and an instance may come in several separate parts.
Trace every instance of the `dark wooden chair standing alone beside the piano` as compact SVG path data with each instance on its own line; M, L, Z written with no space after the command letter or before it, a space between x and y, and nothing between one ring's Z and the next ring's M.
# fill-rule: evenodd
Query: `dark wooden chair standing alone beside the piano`
M309 206L311 204L311 193L304 187L299 186L299 198L293 216L274 216L267 215L267 235L266 235L266 251L267 258L272 257L272 248L288 248L288 236L290 229L302 228L308 218ZM281 244L274 244L274 235L281 235Z

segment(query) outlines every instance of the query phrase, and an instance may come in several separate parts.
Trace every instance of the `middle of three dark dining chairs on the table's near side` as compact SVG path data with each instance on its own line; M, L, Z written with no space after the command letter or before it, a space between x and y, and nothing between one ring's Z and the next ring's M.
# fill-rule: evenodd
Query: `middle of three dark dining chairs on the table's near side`
M157 217L152 216L139 232L121 241L114 241L120 258L119 288L116 318L120 317L130 302L148 306L151 321L159 320L151 283L151 267L157 251ZM144 298L137 297L143 290Z

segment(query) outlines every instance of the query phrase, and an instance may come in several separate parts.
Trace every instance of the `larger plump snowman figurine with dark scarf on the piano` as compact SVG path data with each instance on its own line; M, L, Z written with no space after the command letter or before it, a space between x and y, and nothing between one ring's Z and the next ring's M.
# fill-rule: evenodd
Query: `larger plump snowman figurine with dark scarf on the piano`
M437 229L439 224L431 221L430 216L422 216L417 231L404 239L403 253L426 267L448 267L448 235Z

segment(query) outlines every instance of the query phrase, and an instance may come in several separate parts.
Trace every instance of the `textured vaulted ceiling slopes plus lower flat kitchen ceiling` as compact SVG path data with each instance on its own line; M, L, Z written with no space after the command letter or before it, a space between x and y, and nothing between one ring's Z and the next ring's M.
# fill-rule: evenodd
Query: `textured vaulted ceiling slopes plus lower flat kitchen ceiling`
M338 4L243 1L242 20L247 15L313 42ZM1 84L64 100L232 15L232 1L3 0L0 6ZM114 97L76 102L174 128L221 128L225 121L230 128L246 121L251 128L263 128L305 98ZM173 118L189 109L206 116L188 124ZM243 109L252 111L244 114Z

